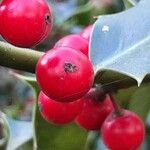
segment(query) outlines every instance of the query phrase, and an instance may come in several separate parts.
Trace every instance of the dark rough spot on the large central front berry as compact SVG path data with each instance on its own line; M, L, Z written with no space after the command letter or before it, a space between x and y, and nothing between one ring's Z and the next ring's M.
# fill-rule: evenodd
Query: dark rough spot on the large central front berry
M78 70L77 66L70 63L70 62L65 62L64 64L64 70L65 72L68 72L68 73L73 73L73 72L76 72Z

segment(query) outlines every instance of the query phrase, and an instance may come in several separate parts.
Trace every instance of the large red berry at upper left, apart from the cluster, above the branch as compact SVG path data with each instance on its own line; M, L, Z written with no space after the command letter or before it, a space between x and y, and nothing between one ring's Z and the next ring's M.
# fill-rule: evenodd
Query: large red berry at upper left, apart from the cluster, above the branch
M0 32L9 43L32 47L43 41L52 28L52 14L45 0L3 0Z

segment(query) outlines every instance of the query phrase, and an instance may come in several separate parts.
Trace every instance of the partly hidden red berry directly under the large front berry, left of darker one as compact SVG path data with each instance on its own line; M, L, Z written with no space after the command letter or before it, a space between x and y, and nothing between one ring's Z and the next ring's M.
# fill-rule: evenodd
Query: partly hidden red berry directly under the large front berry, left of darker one
M38 104L45 120L55 124L66 124L74 120L83 107L83 100L61 103L40 92Z

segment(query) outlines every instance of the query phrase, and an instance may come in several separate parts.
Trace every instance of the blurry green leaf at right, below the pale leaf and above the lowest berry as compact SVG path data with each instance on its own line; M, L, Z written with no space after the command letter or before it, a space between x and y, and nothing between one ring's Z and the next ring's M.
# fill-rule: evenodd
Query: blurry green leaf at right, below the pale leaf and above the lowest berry
M146 122L150 111L150 84L133 86L131 88L119 90L115 94L117 103L124 109L129 109L137 113Z

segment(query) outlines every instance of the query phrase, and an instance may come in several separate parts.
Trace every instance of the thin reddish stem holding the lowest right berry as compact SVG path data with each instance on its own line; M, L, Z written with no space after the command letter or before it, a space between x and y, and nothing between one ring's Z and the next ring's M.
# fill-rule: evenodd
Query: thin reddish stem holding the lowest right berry
M110 96L111 102L112 102L112 104L113 104L113 107L114 107L114 110L115 110L115 114L116 114L117 116L121 116L121 115L122 115L122 109L121 109L121 107L118 105L118 103L117 103L116 100L114 99L112 93L109 93L109 96Z

